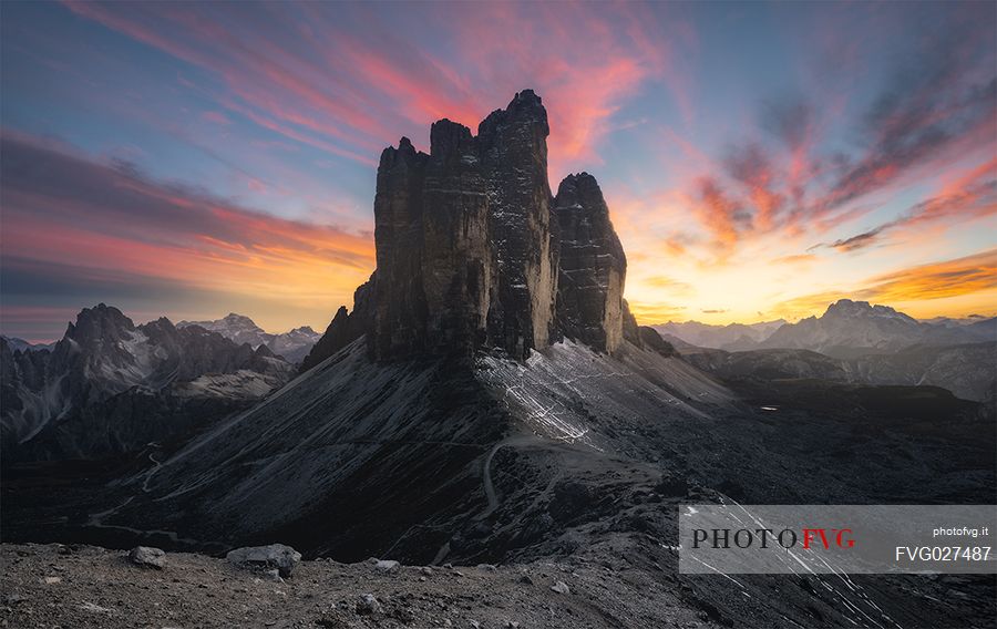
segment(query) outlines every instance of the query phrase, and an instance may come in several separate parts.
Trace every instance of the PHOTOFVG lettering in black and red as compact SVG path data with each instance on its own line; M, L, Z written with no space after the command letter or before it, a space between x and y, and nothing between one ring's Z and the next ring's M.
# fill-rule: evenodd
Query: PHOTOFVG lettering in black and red
M771 528L693 528L692 548L795 548L805 550L823 547L854 548L851 528L802 527L773 530Z

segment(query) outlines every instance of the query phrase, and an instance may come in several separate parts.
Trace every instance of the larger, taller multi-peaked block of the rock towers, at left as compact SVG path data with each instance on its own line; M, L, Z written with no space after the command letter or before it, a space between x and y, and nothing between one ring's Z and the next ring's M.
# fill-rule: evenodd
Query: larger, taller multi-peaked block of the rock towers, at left
M526 355L553 322L547 116L533 92L479 127L441 120L430 154L402 138L378 168L371 351Z

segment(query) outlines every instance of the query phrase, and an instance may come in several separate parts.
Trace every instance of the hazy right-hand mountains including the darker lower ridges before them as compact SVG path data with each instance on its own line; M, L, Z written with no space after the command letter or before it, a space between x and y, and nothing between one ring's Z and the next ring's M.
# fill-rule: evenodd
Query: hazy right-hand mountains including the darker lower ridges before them
M753 332L761 333L764 326L753 324ZM761 341L748 334L730 341L731 332L748 329L738 323L718 327L689 321L655 328L674 341L685 360L724 381L820 379L933 385L964 400L997 399L993 369L997 319L993 318L918 321L887 306L842 299L822 317L770 329ZM689 339L698 344L686 342Z

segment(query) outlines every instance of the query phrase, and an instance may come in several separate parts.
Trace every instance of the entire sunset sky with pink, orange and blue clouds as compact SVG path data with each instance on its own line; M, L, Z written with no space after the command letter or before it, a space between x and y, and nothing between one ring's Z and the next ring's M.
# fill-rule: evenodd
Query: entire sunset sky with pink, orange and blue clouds
M645 323L997 311L997 4L4 2L0 331L323 330L402 135L547 107Z

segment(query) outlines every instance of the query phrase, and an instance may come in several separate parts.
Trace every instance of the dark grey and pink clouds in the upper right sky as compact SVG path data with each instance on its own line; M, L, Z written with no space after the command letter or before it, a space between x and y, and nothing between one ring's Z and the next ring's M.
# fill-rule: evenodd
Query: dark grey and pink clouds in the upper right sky
M980 9L979 19L993 13L963 9ZM939 19L945 28L918 25L921 37L896 55L900 61L863 105L846 107L831 99L818 106L802 94L772 96L715 156L702 155L702 147L687 151L701 169L678 185L718 262L746 241L772 234L821 235L854 221L967 156L990 159L972 182L826 246L855 251L902 227L993 213L997 72L984 61L993 59L994 38L956 12ZM670 142L687 144L668 133Z

